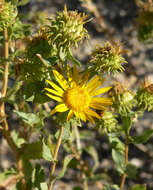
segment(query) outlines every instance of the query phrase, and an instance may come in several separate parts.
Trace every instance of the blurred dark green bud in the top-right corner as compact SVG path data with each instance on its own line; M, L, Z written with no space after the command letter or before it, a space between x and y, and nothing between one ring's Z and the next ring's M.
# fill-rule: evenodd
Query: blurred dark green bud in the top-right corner
M153 5L145 3L139 11L138 39L143 42L153 42Z

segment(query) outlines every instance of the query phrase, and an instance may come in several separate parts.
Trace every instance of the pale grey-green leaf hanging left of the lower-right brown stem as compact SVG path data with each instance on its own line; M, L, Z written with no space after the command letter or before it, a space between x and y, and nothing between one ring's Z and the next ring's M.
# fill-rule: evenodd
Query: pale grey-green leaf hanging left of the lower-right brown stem
M115 149L112 149L112 158L116 164L116 167L117 167L117 171L121 174L124 173L125 171L125 160L124 160L124 154L115 150Z

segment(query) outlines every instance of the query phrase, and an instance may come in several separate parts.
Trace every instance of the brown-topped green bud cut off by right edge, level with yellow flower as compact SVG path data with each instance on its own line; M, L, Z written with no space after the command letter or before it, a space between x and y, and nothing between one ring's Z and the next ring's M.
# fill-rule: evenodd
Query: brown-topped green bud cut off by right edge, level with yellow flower
M135 96L140 110L153 110L153 84L145 80L141 87L138 89Z

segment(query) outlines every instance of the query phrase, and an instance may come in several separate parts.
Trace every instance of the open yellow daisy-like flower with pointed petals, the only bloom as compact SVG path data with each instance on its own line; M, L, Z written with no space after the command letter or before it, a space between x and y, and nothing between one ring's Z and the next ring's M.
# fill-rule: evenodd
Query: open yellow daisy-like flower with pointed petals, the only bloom
M97 97L107 92L111 87L100 88L104 78L96 76L88 81L88 76L80 77L76 65L73 67L73 73L68 67L68 80L56 70L53 70L54 76L60 86L47 80L52 88L45 88L46 93L51 99L59 104L51 111L51 115L56 112L65 112L69 110L67 121L75 115L83 121L89 120L94 123L94 119L100 119L100 115L95 110L106 110L106 107L112 104L111 98Z

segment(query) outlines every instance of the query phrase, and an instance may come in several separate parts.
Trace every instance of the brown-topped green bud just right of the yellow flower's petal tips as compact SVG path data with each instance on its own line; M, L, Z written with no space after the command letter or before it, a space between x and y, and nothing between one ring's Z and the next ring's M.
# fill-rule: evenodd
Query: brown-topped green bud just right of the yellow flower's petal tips
M123 84L116 82L110 91L110 95L113 99L112 107L117 113L121 116L133 113L132 108L136 103L134 95Z

